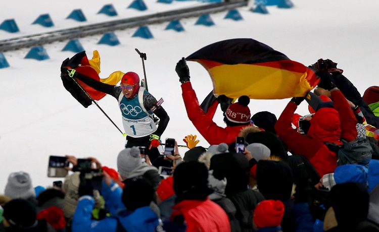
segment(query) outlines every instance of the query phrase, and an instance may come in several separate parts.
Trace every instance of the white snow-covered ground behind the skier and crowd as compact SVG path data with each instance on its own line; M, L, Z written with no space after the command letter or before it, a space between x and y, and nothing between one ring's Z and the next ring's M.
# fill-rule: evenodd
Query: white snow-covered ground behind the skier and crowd
M132 1L65 1L16 0L2 5L0 22L15 19L20 32L0 30L0 39L19 37L77 27L86 24L134 17L145 14L197 6L195 1L174 1L172 4L146 0L148 10L127 9ZM93 50L101 56L101 74L106 78L114 71L133 71L143 77L138 48L147 53L145 61L149 91L165 100L163 107L170 123L162 136L175 138L179 144L187 134L197 134L199 145L209 144L188 120L181 97L180 83L175 73L176 62L182 57L210 43L230 38L253 38L285 53L290 59L304 65L319 58L338 63L363 94L372 85L379 54L379 2L366 0L293 0L292 9L267 7L269 14L252 13L249 7L238 9L242 21L224 19L226 12L212 14L215 26L195 25L197 18L181 20L184 32L164 30L167 23L149 26L154 38L131 37L136 28L115 31L121 44L97 44L102 35L81 38L79 41L91 57ZM97 14L106 4L113 4L118 16ZM34 9L34 10L30 10ZM81 9L87 22L76 22L66 17L72 10ZM31 24L39 15L50 14L55 27L44 28ZM104 165L116 167L116 158L124 146L125 138L96 107L81 106L63 87L60 66L74 52L61 51L68 41L44 45L50 60L24 59L29 48L4 52L10 68L0 69L0 194L10 172L29 172L33 185L49 186L56 179L47 177L49 155L75 155L97 157ZM195 62L188 62L191 81L200 101L211 91L208 73ZM233 78L233 77L230 77ZM279 117L289 99L251 100L252 114L267 110ZM117 101L106 96L99 105L122 129ZM308 113L302 104L297 111ZM216 112L215 122L224 126L222 113ZM182 148L184 153L186 148Z

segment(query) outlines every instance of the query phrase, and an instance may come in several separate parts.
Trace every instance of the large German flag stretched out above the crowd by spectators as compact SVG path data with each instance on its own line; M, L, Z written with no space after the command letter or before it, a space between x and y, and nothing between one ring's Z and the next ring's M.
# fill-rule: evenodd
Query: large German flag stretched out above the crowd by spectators
M200 63L213 82L213 94L282 99L304 96L318 84L314 72L254 39L229 39L186 57Z

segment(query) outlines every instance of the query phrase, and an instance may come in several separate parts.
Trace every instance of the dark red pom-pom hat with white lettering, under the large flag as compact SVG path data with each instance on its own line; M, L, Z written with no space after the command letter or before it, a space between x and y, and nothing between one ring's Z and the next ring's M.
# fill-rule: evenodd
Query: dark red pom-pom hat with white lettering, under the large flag
M248 104L250 98L248 96L241 96L238 98L238 102L235 102L226 109L225 118L232 122L238 124L250 123L250 108Z

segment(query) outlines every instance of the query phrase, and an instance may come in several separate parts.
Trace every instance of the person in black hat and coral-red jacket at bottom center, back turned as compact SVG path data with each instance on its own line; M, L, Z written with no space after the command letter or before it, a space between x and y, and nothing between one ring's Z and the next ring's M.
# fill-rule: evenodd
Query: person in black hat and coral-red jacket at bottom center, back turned
M188 175L191 173L191 175ZM184 217L187 232L230 232L229 217L208 197L213 190L208 187L208 169L204 163L180 163L174 171L174 192L177 196L175 211L171 215Z

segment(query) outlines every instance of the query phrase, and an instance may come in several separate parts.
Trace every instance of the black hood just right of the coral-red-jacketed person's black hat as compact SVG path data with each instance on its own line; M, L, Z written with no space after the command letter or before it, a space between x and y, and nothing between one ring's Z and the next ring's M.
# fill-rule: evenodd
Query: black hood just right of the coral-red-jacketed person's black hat
M226 195L247 190L250 166L244 154L234 152L214 155L209 169L213 170L216 179L226 178Z

